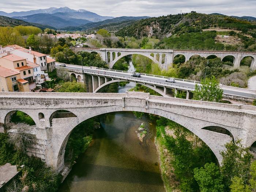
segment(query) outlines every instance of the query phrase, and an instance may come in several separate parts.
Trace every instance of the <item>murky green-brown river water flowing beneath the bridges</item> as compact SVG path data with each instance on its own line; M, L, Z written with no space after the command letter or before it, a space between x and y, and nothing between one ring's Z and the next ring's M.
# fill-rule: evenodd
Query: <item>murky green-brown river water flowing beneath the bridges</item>
M131 65L131 64L130 64ZM134 71L133 65L129 68ZM135 86L128 83L118 93ZM155 124L132 112L114 112L100 117L93 142L77 159L60 192L164 192L154 144ZM144 123L148 135L141 142L138 127Z

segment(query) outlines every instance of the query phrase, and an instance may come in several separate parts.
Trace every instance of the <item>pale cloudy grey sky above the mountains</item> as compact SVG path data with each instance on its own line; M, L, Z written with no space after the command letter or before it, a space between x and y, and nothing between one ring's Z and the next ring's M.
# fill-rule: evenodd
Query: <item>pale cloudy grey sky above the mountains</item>
M114 17L162 16L191 11L256 17L256 0L0 0L0 11L8 13L65 6Z

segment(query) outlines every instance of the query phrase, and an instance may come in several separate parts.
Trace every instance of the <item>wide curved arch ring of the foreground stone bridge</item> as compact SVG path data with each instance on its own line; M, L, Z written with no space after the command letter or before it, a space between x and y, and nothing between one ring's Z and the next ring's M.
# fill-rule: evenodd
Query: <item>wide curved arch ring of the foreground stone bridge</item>
M191 123L192 122L192 118L190 117L185 117L182 116L180 114L176 114L176 113L171 113L168 112L166 113L165 110L162 109L148 109L147 111L145 111L145 108L143 107L139 107L139 106L128 106L128 107L117 107L117 106L105 106L104 108L100 108L100 109L94 109L93 111L91 111L90 113L79 113L77 114L78 118L74 119L74 121L72 121L72 127L69 125L63 125L61 127L61 129L63 130L61 132L61 138L59 142L57 143L57 148L56 148L56 153L54 154L53 159L56 159L57 161L55 161L57 164L53 165L54 167L56 167L56 169L58 171L61 171L64 168L64 154L65 154L65 146L67 144L69 135L71 133L71 131L80 123L82 123L83 121L101 115L101 114L106 114L106 113L110 113L110 112L121 112L121 111L136 111L136 112L146 112L146 113L151 113L151 114L155 114L158 116L162 116L165 118L168 118L169 120L172 120L180 125L182 125L183 127L187 128L189 131L191 131L192 133L194 133L195 135L197 135L200 139L203 140L204 143L207 144L208 147L210 147L210 149L212 150L212 152L215 154L216 158L218 159L218 162L221 163L222 161L222 156L219 154L219 146L218 144L216 144L216 142L214 142L214 140L210 140L209 139L209 135L205 134L205 132L200 131L200 129L196 128L196 124L195 123ZM55 122L57 124L57 122ZM54 127L54 125L53 125ZM56 130L56 132L60 132L60 130ZM221 134L221 133L220 133ZM217 136L216 136L217 137Z

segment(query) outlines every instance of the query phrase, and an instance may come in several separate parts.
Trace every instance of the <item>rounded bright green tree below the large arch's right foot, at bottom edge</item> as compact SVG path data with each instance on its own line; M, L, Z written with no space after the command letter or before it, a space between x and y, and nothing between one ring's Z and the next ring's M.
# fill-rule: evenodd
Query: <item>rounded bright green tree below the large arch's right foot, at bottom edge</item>
M194 177L201 192L222 192L224 189L221 171L215 163L206 163L200 169L196 167Z

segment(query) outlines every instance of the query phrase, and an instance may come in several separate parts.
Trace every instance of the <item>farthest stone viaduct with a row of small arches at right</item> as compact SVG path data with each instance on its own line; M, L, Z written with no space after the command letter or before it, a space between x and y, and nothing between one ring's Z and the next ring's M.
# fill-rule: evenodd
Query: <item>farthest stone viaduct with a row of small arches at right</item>
M217 56L224 59L226 56L233 57L233 65L235 68L240 66L241 60L244 57L251 57L251 69L256 69L256 52L237 52L237 51L217 51L217 50L172 50L172 49L119 49L119 48L71 48L75 53L79 51L98 53L103 61L108 63L109 68L122 57L132 54L140 54L148 57L154 63L157 63L162 69L173 67L173 59L177 55L184 55L185 61L188 61L192 56L199 55L207 58L208 56Z

